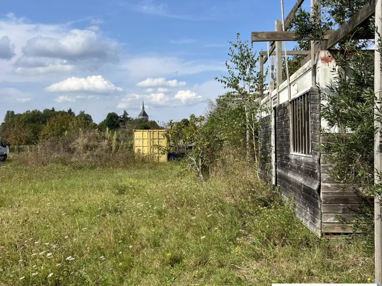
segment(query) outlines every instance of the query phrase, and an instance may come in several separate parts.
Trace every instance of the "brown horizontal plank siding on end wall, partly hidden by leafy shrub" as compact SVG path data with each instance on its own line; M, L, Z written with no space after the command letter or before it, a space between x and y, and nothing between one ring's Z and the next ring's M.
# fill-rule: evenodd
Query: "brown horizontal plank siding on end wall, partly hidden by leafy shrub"
M321 143L327 141L328 137L321 136ZM353 186L345 186L331 178L327 173L330 169L325 154L321 154L322 232L351 233L354 216L359 213L362 201L366 199L357 195ZM339 217L347 224L341 222Z

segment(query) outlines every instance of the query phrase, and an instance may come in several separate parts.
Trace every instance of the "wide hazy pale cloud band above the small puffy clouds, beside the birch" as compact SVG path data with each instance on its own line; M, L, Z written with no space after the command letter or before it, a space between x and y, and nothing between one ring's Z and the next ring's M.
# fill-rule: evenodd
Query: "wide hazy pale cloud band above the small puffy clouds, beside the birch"
M190 75L207 71L223 72L222 61L184 61L177 57L137 57L125 61L121 67L130 77L157 77L164 75Z

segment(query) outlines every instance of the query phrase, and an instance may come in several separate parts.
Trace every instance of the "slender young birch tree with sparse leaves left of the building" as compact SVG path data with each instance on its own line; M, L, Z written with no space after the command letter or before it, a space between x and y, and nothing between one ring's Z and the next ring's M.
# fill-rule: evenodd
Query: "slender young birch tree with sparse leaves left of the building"
M221 76L215 78L224 84L224 88L228 89L228 96L233 100L239 101L245 112L246 118L246 159L250 160L250 132L252 131L252 140L255 155L256 138L257 138L257 122L258 113L261 110L260 90L260 74L256 71L257 59L256 52L253 51L253 46L248 45L248 41L240 40L240 34L236 35L236 43L231 44L228 56L229 60L226 61L228 76ZM251 122L252 120L252 122ZM257 157L255 157L257 159Z

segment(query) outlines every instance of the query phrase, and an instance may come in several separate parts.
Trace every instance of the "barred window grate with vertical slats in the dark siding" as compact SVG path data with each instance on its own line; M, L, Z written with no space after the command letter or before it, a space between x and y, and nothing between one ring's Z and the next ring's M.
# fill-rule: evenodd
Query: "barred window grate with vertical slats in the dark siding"
M291 101L291 117L292 152L312 154L310 92Z

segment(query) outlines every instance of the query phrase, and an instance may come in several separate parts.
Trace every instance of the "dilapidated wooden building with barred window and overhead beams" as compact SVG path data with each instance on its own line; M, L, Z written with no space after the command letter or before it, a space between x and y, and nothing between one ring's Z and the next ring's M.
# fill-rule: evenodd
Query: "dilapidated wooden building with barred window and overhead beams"
M284 21L287 27L301 6L298 0ZM352 232L352 214L359 211L361 198L350 187L343 188L327 173L320 135L326 121L320 115L321 90L335 84L335 62L330 50L375 12L370 1L343 26L324 37L324 42L312 41L311 51L282 51L282 41L293 41L294 32L283 32L276 20L276 32L253 32L252 42L268 41L268 49L260 52L260 72L267 64L271 80L261 103L269 106L268 114L261 114L259 128L259 175L269 185L279 186L284 199L295 202L295 212L317 236ZM281 81L282 57L304 55L301 68L286 81ZM275 56L275 66L273 65ZM272 62L270 64L270 62ZM348 223L343 224L338 215Z

